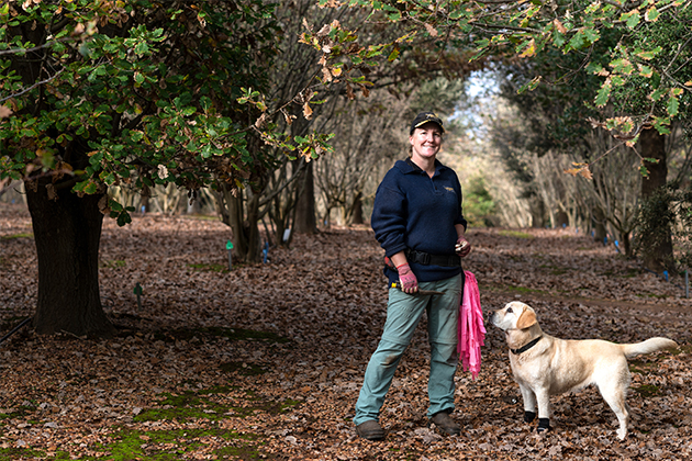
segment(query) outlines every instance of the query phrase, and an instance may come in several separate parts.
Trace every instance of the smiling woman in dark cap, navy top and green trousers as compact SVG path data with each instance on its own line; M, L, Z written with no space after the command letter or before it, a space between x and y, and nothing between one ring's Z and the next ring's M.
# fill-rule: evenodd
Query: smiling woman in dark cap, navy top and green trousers
M471 246L464 236L461 187L456 173L442 165L443 122L422 112L411 124L411 154L387 172L375 198L371 225L384 248L384 273L390 288L387 322L370 358L356 403L356 431L368 440L381 440L379 414L384 396L411 342L423 312L427 313L431 342L428 379L429 423L447 435L460 427L454 411L454 374L457 368L457 322L464 290L460 258ZM438 291L443 294L422 294Z

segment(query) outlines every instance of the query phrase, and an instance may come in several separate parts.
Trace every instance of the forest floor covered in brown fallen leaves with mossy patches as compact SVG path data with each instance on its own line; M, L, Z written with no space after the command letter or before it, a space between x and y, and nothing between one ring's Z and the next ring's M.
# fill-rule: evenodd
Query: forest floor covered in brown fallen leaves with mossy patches
M482 368L456 376L460 436L426 425L429 347L418 326L382 409L384 441L351 418L386 317L372 232L331 228L227 269L214 220L107 221L101 296L112 339L37 336L0 345L0 460L687 460L692 457L692 301L573 229L469 229L465 268L488 318L520 300L561 338L681 346L630 360L629 435L593 387L556 396L553 430L524 424L503 334L485 323ZM142 305L134 294L143 286ZM0 204L0 335L32 315L31 220Z

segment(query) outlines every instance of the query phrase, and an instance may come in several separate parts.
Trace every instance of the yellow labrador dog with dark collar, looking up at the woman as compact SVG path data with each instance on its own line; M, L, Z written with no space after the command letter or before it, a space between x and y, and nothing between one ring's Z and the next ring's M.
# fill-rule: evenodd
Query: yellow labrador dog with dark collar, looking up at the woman
M538 431L550 429L549 396L595 384L617 416L617 437L627 436L629 386L627 358L677 347L667 338L651 338L633 345L601 339L565 340L540 329L534 310L517 301L492 315L494 326L504 330L510 346L510 364L524 400L524 420L536 417Z

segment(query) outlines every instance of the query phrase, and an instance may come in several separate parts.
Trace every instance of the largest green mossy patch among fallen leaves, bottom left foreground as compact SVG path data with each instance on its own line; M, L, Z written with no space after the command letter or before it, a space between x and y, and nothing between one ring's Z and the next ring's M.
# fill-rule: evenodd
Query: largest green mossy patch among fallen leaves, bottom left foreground
M198 391L161 393L159 401L133 418L144 427L157 421L192 425L175 429L141 429L113 426L101 442L87 447L93 456L71 453L69 445L60 451L46 452L32 448L0 449L0 461L35 460L112 460L174 461L181 459L259 460L272 459L261 452L264 436L238 432L223 427L223 420L256 414L277 415L295 409L302 402L269 401L238 386L215 386ZM4 416L4 415L1 415ZM76 448L76 447L75 447ZM81 447L83 448L83 447ZM81 449L79 451L82 451ZM207 458L211 456L211 458Z

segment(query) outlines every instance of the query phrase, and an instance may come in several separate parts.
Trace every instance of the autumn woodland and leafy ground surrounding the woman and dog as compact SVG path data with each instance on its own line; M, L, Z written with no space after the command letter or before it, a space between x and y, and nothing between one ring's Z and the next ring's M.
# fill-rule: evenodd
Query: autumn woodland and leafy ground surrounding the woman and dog
M689 0L2 2L0 308L29 325L0 453L689 458L691 41ZM388 440L355 437L387 296L367 217L423 110L487 311L681 344L633 362L626 441L590 391L517 425L492 328L462 436L425 428L417 336Z

